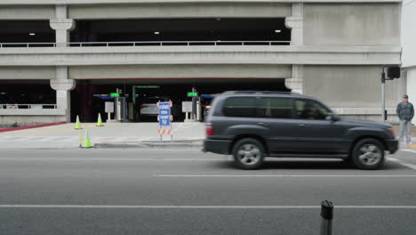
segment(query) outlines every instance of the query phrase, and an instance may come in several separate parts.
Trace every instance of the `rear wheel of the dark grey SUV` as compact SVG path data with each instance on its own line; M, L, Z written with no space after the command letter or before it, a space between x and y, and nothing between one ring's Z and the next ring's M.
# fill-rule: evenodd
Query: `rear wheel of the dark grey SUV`
M263 164L264 146L256 139L244 138L237 141L232 153L236 167L240 169L259 169Z

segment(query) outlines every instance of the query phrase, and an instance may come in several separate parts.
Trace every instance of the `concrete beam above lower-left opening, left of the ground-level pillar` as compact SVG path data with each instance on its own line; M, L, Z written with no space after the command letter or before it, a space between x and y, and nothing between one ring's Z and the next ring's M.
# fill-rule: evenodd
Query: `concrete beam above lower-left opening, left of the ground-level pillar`
M0 66L0 79L54 79L56 69L48 67Z

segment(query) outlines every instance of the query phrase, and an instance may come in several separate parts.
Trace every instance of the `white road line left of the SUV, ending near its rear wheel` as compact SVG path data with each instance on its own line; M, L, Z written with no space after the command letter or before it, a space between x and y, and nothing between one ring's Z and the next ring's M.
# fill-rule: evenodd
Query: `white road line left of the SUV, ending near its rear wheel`
M7 161L20 161L20 160L32 160L32 161L220 161L222 159L187 159L187 158L0 158Z

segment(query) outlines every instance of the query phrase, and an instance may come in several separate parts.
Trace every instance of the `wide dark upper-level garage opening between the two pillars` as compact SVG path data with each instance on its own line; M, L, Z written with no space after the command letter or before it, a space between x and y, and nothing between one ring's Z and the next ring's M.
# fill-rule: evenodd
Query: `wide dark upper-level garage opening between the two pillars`
M71 42L92 43L290 40L284 18L77 20L71 31Z

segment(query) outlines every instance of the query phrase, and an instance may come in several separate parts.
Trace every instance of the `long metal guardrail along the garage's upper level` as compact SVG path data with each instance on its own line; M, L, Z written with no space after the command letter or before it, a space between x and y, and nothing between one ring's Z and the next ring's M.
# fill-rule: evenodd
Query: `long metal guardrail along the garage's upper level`
M169 45L290 45L291 41L142 41L142 42L75 42L75 43L1 43L7 47L89 47L89 46L169 46Z

